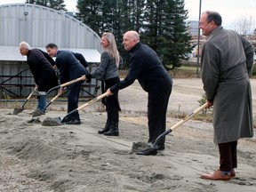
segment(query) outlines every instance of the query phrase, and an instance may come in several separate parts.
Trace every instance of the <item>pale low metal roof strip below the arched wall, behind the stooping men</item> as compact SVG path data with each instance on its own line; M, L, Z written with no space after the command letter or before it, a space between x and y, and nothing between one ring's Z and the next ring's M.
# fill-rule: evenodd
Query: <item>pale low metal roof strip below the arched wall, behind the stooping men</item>
M46 52L45 48L38 47L38 49ZM70 52L80 52L84 55L84 59L89 63L100 62L100 52L98 52L96 49L59 49L69 50ZM0 46L0 60L27 61L27 57L20 54L19 46Z

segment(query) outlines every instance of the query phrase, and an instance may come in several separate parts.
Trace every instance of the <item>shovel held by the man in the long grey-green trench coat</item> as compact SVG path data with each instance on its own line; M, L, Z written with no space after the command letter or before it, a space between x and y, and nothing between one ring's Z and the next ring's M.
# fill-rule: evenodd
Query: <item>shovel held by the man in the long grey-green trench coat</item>
M136 152L136 154L141 155L141 156L149 156L149 155L155 155L156 156L157 155L158 144L165 137L165 135L167 135L170 132L172 132L173 130L177 129L181 124L184 124L185 122L187 122L191 117L196 116L196 114L198 114L200 111L202 111L206 107L207 107L207 103L204 103L204 105L201 106L200 108L196 108L196 110L193 111L190 115L184 117L182 120L180 120L180 122L178 122L177 124L172 125L172 127L169 130L166 130L165 132L160 134L156 138L155 142L153 144L150 144L151 148L146 148L145 150Z

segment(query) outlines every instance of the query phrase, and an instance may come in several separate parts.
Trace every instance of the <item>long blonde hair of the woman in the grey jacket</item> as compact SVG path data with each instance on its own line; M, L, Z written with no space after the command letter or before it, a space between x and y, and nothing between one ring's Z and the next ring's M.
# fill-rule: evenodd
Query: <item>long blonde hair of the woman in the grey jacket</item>
M119 56L119 52L116 48L116 40L115 40L115 36L108 32L108 33L103 33L102 36L105 36L108 40L109 46L106 49L106 52L108 52L108 54L110 55L110 58L113 58L116 60L116 66L119 66L119 62L120 62L120 56Z

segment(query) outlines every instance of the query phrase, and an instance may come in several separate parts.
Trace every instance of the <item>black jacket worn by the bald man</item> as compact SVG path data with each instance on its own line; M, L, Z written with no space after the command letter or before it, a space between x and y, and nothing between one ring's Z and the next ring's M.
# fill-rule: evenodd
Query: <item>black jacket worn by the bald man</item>
M130 53L128 75L123 81L112 86L111 92L124 89L136 79L145 92L164 92L172 87L172 78L153 49L139 42Z

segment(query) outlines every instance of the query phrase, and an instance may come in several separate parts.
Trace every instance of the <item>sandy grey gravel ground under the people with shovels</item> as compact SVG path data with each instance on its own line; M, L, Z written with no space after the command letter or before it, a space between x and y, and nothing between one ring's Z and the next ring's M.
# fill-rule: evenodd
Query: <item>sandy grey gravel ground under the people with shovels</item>
M253 82L254 83L254 82ZM189 114L202 94L198 79L174 79L168 113ZM252 90L255 91L254 87ZM31 121L0 110L0 191L255 191L256 139L239 140L234 180L201 180L218 167L212 124L189 120L166 136L157 156L136 156L132 142L147 142L147 93L138 83L120 92L120 136L97 134L106 121L100 102L80 112L81 125L43 126L47 117L65 116L65 103ZM64 108L64 111L63 111ZM167 127L180 119L167 118ZM28 123L30 122L30 123Z

